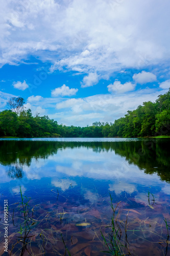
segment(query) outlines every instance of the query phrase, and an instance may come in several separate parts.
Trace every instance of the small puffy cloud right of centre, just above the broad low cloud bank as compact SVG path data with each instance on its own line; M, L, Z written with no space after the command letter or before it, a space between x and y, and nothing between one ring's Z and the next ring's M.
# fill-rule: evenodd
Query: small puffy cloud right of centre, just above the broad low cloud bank
M109 92L125 93L133 91L135 89L135 84L131 82L126 82L122 84L120 81L115 80L114 83L109 84L107 88Z

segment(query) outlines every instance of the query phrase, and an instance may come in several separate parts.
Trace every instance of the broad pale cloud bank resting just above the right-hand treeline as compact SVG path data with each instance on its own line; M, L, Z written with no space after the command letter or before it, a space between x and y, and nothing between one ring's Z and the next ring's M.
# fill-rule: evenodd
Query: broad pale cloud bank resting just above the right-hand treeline
M134 110L143 101L155 101L157 96L167 90L137 90L128 94L99 94L84 98L61 100L56 104L57 113L49 115L66 125L86 126L95 121L114 122L123 117L128 110ZM62 110L60 112L60 110ZM74 123L72 122L74 120Z

